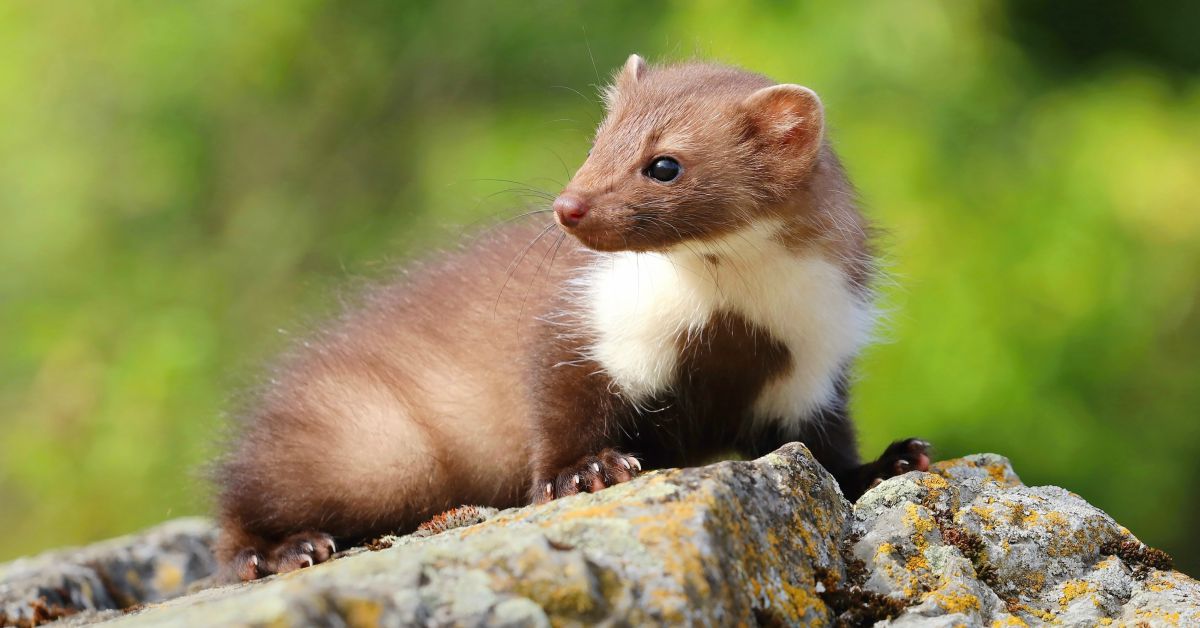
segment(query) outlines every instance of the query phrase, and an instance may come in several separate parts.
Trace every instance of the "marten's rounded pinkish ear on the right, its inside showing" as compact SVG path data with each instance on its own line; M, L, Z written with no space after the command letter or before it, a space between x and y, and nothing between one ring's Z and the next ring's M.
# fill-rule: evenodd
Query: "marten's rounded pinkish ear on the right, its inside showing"
M772 85L742 102L751 132L794 159L811 163L821 149L824 112L821 98L800 85Z

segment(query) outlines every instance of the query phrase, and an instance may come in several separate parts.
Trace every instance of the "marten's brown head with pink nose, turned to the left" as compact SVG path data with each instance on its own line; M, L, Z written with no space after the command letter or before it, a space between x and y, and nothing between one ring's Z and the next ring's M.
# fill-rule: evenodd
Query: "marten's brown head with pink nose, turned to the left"
M605 102L587 161L554 201L558 223L599 251L665 250L787 211L821 151L816 94L732 67L652 67L635 54Z

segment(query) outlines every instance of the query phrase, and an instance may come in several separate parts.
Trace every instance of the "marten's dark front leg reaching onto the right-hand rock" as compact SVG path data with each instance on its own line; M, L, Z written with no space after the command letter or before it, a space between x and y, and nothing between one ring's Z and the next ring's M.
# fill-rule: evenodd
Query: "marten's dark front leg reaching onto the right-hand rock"
M768 429L755 435L740 449L748 457L758 457L790 441L803 442L852 502L884 479L908 471L929 471L930 445L917 438L896 441L880 457L862 462L845 385L839 387L838 397L832 403L800 424L798 433Z

